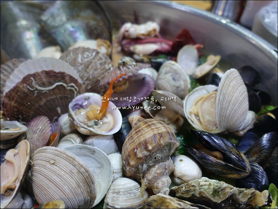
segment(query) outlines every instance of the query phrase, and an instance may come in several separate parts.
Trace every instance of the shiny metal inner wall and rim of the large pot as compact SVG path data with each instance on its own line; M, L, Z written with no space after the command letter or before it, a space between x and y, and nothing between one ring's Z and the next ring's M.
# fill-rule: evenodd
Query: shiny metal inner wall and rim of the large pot
M278 56L273 45L237 23L190 6L167 1L103 1L114 27L126 21L160 25L164 38L173 40L187 28L196 42L210 53L221 54L234 68L249 65L260 74L259 88L277 105ZM228 70L228 69L227 69Z

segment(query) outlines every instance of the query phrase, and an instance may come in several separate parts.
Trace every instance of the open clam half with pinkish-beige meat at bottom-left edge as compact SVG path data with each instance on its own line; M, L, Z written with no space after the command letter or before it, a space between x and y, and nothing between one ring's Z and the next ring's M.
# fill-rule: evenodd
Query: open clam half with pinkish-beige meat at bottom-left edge
M1 164L1 208L18 194L29 169L30 157L31 147L26 140L7 151L6 161Z

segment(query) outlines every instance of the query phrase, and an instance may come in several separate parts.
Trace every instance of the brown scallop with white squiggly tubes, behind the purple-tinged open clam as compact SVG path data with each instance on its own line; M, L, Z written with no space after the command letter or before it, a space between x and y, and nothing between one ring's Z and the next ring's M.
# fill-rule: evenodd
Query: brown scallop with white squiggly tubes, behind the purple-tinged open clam
M62 54L63 60L74 67L86 92L95 92L103 95L108 86L101 86L101 81L112 70L111 59L97 49L78 47Z

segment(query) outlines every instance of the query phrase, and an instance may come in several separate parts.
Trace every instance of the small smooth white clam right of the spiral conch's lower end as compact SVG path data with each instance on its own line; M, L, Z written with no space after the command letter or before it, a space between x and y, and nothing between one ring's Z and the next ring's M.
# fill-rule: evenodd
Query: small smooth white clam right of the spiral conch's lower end
M178 185L202 177L201 168L190 157L177 155L173 163L175 164L175 169L173 171L174 177L172 180Z

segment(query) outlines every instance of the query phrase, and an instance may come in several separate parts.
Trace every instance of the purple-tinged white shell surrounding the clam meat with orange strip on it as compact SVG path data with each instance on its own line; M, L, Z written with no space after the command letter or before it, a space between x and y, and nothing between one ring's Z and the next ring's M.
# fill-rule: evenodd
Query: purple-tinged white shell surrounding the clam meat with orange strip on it
M120 130L122 126L122 115L120 113L120 110L116 108L116 105L114 105L111 101L109 101L109 107L107 109L107 112L110 113L115 121L115 124L113 128L107 132L100 132L95 130L92 127L86 126L84 123L80 122L78 118L75 116L75 112L77 110L73 110L74 105L80 104L84 105L86 107L90 105L102 105L102 96L97 93L84 93L77 97L75 97L69 104L69 117L72 122L74 122L75 127L77 130L86 135L111 135L115 134L118 130Z

